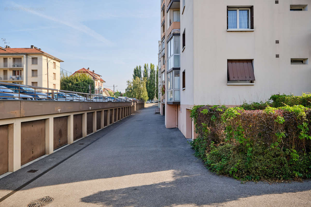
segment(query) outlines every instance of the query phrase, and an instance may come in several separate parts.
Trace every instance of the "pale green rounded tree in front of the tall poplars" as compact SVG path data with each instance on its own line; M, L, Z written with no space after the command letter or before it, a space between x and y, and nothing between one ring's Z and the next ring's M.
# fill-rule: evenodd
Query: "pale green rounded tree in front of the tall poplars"
M147 101L148 94L146 90L147 79L145 77L142 80L137 76L136 79L132 81L128 80L128 87L125 89L125 94L129 98L137 98L138 100Z

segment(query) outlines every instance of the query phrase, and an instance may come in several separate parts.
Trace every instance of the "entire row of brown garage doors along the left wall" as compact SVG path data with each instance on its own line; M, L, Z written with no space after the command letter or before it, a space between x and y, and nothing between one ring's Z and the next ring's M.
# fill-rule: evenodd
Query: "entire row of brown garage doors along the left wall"
M118 120L116 110L110 109L109 124L112 124L112 110L114 120ZM121 112L121 111L120 111ZM104 126L107 126L107 110L104 110ZM55 117L53 120L53 148L54 150L67 145L67 116ZM96 112L96 129L100 129L101 111ZM9 128L0 125L0 175L8 172ZM86 133L93 132L93 112L87 113ZM73 115L73 141L82 137L82 114ZM21 165L45 155L45 119L21 123Z

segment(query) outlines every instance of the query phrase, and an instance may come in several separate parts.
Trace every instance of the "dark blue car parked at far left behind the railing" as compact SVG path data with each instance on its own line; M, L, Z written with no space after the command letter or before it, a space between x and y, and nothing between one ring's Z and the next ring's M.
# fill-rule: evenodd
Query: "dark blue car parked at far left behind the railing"
M9 83L9 84L10 85L1 83L0 85L11 89L15 93L18 93L19 91L20 93L23 93L25 95L32 96L35 98L35 100L48 100L48 96L45 93L35 91L35 89L29 88L26 85L19 85L15 83Z

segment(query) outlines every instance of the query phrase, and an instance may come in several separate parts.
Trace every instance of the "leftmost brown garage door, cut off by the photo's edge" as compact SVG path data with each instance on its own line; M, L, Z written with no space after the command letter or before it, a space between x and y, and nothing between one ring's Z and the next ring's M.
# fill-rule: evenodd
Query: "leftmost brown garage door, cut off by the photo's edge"
M9 133L8 125L0 126L0 175L9 171Z

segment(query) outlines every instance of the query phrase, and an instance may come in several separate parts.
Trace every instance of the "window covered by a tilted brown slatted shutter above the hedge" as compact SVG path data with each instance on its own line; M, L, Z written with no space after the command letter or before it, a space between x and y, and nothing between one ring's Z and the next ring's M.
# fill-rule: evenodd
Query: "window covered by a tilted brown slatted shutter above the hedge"
M227 84L254 83L255 75L253 60L228 60L227 61Z

